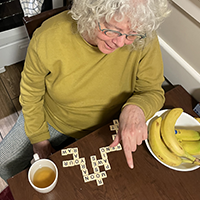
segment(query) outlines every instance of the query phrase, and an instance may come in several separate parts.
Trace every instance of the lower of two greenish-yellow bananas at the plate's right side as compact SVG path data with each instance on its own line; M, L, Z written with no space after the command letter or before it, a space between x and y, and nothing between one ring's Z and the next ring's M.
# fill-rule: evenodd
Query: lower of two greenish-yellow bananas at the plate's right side
M200 140L198 141L181 141L180 142L189 154L200 155Z

